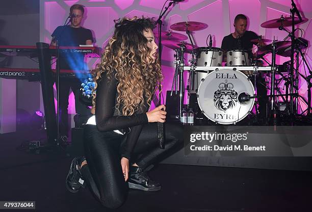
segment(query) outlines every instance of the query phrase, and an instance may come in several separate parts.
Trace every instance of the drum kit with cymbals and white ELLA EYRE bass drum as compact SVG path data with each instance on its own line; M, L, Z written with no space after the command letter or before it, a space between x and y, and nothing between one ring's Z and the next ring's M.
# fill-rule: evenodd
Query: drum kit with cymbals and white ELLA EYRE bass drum
M305 22L306 19L295 18L295 24ZM264 28L280 28L292 24L291 18L281 17L261 24ZM289 57L290 41L276 41L259 36L251 40L258 49L252 55L249 49L232 49L223 52L221 48L210 45L197 47L193 44L190 33L207 28L207 24L195 21L178 22L170 25L171 30L186 32L186 35L171 31L162 32L162 44L175 51L175 74L172 83L171 95L179 93L179 114L183 109L184 100L184 71L189 72L188 96L195 96L192 101L199 108L199 113L218 124L236 124L251 113L255 104L255 85L251 77L266 72L271 73L270 102L272 110L276 103L275 73L276 55ZM156 35L157 37L158 35ZM185 42L189 37L191 43ZM211 37L211 35L210 35ZM207 38L208 40L208 38ZM265 43L272 42L265 45ZM302 48L306 48L303 46ZM191 54L190 66L185 66L184 54ZM262 67L259 59L271 53L272 63ZM226 54L226 65L222 66ZM224 61L225 62L225 61ZM268 63L269 64L269 63ZM175 89L174 89L175 87ZM195 99L195 100L194 100ZM190 104L194 103L191 102ZM194 104L193 104L194 105ZM267 115L268 117L268 115Z

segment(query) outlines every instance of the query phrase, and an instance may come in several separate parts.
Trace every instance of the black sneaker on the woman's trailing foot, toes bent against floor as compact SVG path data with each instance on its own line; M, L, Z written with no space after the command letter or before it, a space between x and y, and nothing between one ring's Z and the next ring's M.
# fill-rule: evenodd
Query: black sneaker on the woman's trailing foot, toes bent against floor
M71 161L70 169L66 177L66 189L71 193L77 193L81 187L86 187L85 180L80 172L80 166L85 160L85 157L75 157Z

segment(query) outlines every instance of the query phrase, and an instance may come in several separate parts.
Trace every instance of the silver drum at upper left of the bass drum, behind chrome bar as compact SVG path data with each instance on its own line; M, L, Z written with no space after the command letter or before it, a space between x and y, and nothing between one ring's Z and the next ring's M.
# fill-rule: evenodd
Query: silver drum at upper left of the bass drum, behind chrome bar
M216 47L199 47L196 49L196 65L197 66L221 66L222 65L223 52L221 48ZM196 71L194 72L193 78L193 88L191 93L196 93L201 80L208 75L208 70L206 71Z

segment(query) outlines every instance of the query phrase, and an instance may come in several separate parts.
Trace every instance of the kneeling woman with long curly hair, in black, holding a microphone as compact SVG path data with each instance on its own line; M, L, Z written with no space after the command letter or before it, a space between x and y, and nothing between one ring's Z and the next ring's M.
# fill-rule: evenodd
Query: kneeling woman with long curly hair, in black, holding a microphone
M123 18L115 24L94 70L96 110L84 128L86 157L73 159L66 178L70 192L87 184L109 208L122 205L128 188L159 191L160 183L147 171L183 144L179 123L168 122L165 148L159 148L157 122L165 122L166 108L148 111L163 79L153 28L149 18Z

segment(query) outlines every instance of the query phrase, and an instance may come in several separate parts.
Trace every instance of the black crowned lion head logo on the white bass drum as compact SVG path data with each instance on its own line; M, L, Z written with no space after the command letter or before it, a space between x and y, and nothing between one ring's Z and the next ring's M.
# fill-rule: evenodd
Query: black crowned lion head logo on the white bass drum
M214 94L215 107L223 112L235 108L238 93L233 90L233 84L225 80L225 83L220 83L218 87Z

